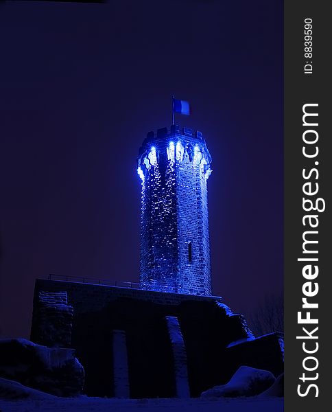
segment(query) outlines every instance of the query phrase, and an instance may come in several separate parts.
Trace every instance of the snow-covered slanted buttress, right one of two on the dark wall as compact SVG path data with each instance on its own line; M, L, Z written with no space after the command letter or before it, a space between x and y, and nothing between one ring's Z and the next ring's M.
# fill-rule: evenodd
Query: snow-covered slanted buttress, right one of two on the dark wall
M180 323L178 322L178 318L174 316L167 316L165 319L174 356L176 396L178 396L178 398L190 398L187 352L180 329Z

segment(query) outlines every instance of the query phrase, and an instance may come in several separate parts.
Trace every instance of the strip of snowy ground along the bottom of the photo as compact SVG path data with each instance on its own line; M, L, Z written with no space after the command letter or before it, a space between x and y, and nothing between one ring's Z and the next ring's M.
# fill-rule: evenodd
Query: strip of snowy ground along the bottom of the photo
M283 398L0 400L1 412L282 412Z

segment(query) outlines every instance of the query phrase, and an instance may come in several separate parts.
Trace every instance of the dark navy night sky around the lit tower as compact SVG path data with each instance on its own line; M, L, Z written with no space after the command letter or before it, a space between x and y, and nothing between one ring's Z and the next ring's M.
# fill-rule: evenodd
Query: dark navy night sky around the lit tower
M49 273L138 282L139 146L171 124L213 157L213 293L283 287L281 0L0 4L0 336Z

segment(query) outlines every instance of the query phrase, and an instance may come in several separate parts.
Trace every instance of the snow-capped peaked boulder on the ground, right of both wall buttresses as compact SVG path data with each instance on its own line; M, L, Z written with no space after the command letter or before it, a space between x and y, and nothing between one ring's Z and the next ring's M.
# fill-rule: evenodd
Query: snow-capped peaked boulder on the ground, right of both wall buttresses
M270 371L241 366L226 385L215 386L204 391L202 398L235 398L237 396L256 396L271 387L276 378Z

